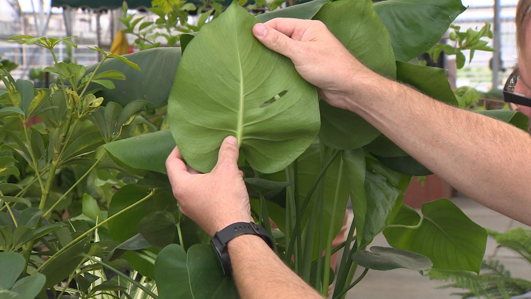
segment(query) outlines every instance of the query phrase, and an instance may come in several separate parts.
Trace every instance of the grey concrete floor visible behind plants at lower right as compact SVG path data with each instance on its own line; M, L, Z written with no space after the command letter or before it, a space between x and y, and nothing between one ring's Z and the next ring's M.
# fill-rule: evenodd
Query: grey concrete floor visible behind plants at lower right
M468 198L453 198L453 202L459 206L461 210L478 225L486 228L497 230L499 232L507 232L507 230L524 227L531 228L516 220L512 220L498 212L492 211L481 206ZM386 238L380 234L374 238L370 246L387 246L389 244ZM527 262L523 262L516 253L506 249L497 249L496 242L489 236L487 240L485 259L495 258L503 262L506 269L511 271L513 277L521 277L531 280L531 266ZM360 271L361 270L361 271ZM362 269L358 269L357 277ZM396 269L391 271L375 271L367 272L365 278L359 282L353 289L347 293L347 298L460 298L459 296L451 296L452 292L462 291L461 289L435 289L437 286L444 285L439 280L430 280L428 277L421 276L415 270Z

